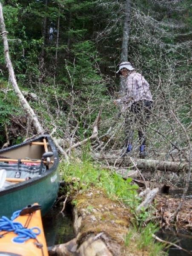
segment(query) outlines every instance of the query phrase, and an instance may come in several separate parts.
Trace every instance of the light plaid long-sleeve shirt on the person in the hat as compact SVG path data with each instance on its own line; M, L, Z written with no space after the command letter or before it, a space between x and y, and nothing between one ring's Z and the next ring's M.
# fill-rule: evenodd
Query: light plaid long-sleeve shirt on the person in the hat
M130 107L133 102L138 102L143 99L152 101L149 83L140 73L133 71L126 79L125 96L117 99L116 102Z

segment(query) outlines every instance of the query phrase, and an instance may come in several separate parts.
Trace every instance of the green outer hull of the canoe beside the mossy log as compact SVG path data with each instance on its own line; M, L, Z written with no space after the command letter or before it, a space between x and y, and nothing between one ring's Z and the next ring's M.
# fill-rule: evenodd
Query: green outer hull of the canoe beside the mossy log
M20 184L9 186L9 189L0 191L0 216L4 215L10 218L14 211L34 204L35 202L41 205L41 214L45 215L53 206L59 189L59 174L57 172L59 159L50 137L47 135L43 137L46 137L54 153L53 166L44 174L40 175L40 177L34 177ZM40 138L38 137L36 140L40 140ZM6 150L9 151L9 148Z

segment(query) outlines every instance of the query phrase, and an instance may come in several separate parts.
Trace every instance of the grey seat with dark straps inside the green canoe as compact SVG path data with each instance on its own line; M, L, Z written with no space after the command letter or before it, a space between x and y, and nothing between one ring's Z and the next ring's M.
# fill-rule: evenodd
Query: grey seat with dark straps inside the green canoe
M40 172L40 165L26 165L24 163L5 163L0 162L0 169L6 170L6 177L8 178L33 178L37 177ZM42 173L46 172L46 166L43 165Z

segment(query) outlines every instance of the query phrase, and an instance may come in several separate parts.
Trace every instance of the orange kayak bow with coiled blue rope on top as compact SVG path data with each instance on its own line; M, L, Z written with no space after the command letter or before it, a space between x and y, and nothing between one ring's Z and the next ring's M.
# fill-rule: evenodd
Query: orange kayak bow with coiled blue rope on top
M19 214L13 221L0 218L0 255L48 256L40 206L28 206Z

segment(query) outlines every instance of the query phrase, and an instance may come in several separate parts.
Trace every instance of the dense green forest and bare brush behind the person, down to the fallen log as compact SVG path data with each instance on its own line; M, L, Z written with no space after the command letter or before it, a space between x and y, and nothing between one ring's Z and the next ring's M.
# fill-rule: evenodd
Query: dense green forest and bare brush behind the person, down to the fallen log
M45 131L63 139L63 148L92 134L101 105L93 147L121 148L124 116L117 119L113 99L120 90L115 72L128 2L128 61L149 81L155 102L146 130L150 156L173 160L176 152L181 160L189 153L192 128L191 0L3 1L17 82ZM8 138L12 145L36 131L9 84L3 42L0 73L2 147ZM135 152L138 146L135 140Z

